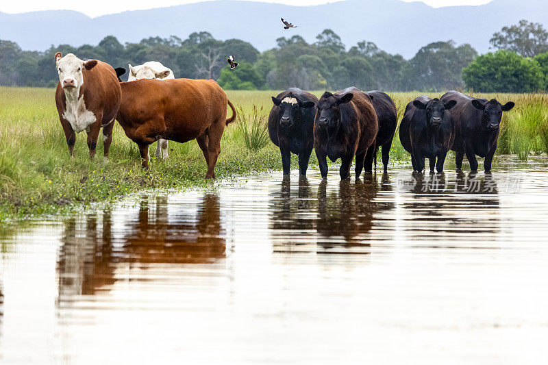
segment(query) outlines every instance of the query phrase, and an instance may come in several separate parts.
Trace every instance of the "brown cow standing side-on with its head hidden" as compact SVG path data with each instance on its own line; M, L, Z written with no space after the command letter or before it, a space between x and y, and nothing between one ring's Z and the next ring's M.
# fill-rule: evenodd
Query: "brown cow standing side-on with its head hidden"
M206 179L215 178L225 127L236 118L234 105L213 80L139 79L120 84L122 101L116 120L136 142L142 166L149 167L149 144L162 138L197 140L208 164ZM227 104L232 116L227 119Z

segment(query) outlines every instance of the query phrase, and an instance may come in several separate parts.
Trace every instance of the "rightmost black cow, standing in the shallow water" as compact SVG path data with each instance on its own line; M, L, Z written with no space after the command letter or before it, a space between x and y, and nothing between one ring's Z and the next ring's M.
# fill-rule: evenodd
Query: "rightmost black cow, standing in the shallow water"
M491 171L502 112L514 108L514 103L508 101L501 105L496 99L475 99L457 91L446 92L441 97L444 102L449 99L457 101L451 110L456 125L455 143L451 149L456 152L457 169L462 169L462 159L466 153L471 171L477 171L476 155L485 158L485 171Z

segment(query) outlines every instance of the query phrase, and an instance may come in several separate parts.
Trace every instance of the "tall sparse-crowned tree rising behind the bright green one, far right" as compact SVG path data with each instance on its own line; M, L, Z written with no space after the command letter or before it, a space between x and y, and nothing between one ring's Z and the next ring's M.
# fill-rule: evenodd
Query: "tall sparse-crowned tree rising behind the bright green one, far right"
M525 19L518 25L503 27L489 42L495 49L506 49L523 57L548 52L548 32L540 23L530 23Z

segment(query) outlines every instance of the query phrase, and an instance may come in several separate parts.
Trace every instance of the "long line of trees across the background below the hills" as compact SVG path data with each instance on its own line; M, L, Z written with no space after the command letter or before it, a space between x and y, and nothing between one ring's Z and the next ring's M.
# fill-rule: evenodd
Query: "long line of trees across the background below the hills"
M495 33L490 43L499 50L484 55L469 44L449 40L425 45L406 60L366 40L347 49L331 29L312 44L299 35L276 42L275 48L261 53L244 40L216 40L208 32L196 32L185 40L151 37L125 45L107 36L97 46L52 45L40 52L0 40L0 85L55 86L53 55L61 51L126 69L127 64L160 61L175 77L216 79L227 90L336 90L352 85L362 90L533 92L548 86L548 32L527 21ZM240 63L232 71L228 55Z

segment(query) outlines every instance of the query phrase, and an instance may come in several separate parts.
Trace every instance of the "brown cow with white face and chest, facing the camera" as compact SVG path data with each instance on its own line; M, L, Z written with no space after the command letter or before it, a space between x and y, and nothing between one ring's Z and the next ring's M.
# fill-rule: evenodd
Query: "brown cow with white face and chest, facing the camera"
M116 71L105 62L80 60L72 53L55 53L59 84L55 103L69 153L74 155L75 133L88 132L90 158L95 155L99 131L103 127L105 158L112 142L112 127L118 113L121 88Z

